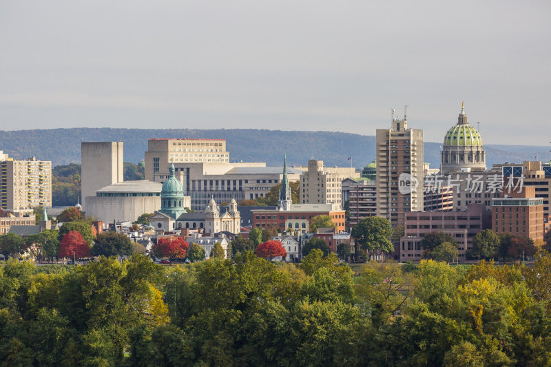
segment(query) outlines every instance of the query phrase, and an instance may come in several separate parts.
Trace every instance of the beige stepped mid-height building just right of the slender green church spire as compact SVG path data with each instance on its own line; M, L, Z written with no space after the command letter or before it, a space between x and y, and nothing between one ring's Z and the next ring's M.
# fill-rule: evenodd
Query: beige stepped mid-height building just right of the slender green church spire
M341 206L342 180L359 176L353 167L324 167L323 160L309 160L308 170L300 175L300 203Z

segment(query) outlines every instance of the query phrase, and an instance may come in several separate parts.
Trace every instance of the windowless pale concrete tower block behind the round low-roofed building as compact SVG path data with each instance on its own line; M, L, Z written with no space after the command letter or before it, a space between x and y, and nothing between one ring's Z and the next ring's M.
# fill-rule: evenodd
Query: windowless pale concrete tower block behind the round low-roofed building
M102 187L123 182L123 142L81 143L81 177L82 207L86 211L87 197L96 196Z

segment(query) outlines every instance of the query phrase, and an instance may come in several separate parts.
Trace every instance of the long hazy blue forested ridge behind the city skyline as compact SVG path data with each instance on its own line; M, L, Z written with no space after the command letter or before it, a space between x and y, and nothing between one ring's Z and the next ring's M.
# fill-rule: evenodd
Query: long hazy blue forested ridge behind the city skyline
M36 156L54 166L80 163L81 142L123 141L125 162L143 160L148 138L226 139L232 162L267 162L282 165L287 153L290 165L306 165L310 157L327 166L363 167L375 158L375 136L342 132L302 132L266 129L34 129L0 132L0 150L18 159ZM424 144L424 160L439 167L441 143ZM497 162L549 160L548 147L485 145L488 167ZM351 160L348 160L352 156Z

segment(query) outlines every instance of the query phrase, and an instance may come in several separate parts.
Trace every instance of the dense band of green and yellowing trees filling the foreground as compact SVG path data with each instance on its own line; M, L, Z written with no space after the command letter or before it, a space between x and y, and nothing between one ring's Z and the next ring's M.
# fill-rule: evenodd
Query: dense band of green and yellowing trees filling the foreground
M0 266L2 366L549 366L551 257Z

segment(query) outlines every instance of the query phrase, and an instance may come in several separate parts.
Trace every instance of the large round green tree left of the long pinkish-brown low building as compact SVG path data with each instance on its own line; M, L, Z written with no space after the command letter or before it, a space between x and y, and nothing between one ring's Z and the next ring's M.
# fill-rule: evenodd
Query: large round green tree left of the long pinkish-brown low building
M388 219L368 217L352 227L351 235L364 251L380 250L391 252L394 247L390 240L393 230Z

